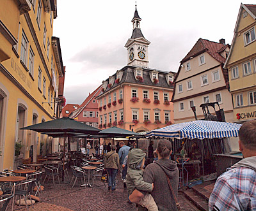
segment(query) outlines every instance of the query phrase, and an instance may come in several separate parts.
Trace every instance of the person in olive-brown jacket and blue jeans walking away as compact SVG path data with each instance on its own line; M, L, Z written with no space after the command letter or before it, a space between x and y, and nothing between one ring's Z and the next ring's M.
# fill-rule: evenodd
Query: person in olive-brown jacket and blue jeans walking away
M111 189L111 191L115 191L116 174L120 166L119 157L118 157L118 154L116 153L115 145L113 145L111 147L111 151L107 153L104 160L104 166L108 171L108 189L109 190Z

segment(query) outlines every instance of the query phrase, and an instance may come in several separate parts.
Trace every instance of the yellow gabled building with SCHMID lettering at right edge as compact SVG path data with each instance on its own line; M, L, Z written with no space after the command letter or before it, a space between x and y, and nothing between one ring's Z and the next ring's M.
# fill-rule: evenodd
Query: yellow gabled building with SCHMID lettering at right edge
M234 122L256 119L256 5L241 4L234 38L225 63L228 68Z

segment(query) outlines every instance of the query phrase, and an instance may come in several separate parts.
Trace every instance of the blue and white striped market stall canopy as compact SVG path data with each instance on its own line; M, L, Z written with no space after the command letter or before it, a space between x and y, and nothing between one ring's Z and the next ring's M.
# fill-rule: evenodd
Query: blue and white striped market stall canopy
M148 132L146 136L147 138L155 136L177 139L227 138L237 137L240 127L241 124L230 122L195 120L154 129Z

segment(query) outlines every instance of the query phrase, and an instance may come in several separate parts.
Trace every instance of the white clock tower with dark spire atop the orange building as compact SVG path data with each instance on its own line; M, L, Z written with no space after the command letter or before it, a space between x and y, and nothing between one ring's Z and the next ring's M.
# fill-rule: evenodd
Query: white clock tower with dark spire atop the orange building
M140 21L141 18L136 5L134 17L132 18L132 36L125 44L125 48L127 48L127 65L148 68L148 45L150 41L146 40L141 33Z

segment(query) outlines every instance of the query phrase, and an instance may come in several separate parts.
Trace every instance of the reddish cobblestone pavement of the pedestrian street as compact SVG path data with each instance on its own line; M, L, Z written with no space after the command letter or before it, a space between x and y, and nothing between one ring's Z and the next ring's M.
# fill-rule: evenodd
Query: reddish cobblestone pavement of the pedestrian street
M67 179L66 179L67 180ZM70 181L69 177L67 181ZM45 182L45 191L38 196L41 200L32 207L31 211L93 211L93 210L129 210L135 211L134 204L127 203L127 190L124 189L120 174L116 178L118 180L115 191L108 191L108 186L104 186L99 180L95 182L95 186L81 187L81 180L77 179L77 183L72 186L66 184L56 184L53 186L52 181ZM188 200L179 193L179 202L182 210L198 210ZM26 207L14 207L14 210L26 210Z

